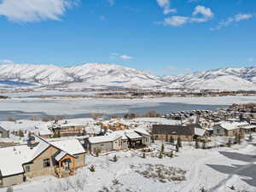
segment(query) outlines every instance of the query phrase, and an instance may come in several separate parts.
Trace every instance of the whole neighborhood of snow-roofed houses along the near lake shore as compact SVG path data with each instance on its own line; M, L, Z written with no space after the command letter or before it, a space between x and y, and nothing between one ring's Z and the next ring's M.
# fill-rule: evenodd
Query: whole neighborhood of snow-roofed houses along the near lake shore
M0 187L43 175L72 176L86 165L87 155L148 148L157 140L197 141L211 146L214 138L236 141L255 131L252 115L224 111L180 112L135 119L0 121Z

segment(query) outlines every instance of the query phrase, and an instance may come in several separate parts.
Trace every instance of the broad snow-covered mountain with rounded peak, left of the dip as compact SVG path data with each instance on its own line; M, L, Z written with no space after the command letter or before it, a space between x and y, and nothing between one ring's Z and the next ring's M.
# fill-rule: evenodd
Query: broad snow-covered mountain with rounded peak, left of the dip
M69 88L154 87L166 84L160 80L160 77L150 73L129 67L99 63L75 67L0 65L0 82L7 80L43 86L61 84Z

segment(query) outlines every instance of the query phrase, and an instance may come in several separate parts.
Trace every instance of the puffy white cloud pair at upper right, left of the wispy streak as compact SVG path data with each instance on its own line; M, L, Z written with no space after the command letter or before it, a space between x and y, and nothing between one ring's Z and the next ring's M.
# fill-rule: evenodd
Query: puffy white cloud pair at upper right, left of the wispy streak
M201 17L196 17L197 15L201 15ZM195 7L191 17L173 15L171 17L166 17L164 21L158 22L158 24L164 26L183 26L187 23L207 22L208 20L211 20L213 16L212 9L199 5Z

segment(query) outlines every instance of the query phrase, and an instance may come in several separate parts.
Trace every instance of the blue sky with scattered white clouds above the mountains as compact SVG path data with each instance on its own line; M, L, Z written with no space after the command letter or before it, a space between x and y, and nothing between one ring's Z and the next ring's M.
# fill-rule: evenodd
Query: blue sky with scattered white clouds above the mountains
M256 65L255 0L0 0L0 64L167 75Z

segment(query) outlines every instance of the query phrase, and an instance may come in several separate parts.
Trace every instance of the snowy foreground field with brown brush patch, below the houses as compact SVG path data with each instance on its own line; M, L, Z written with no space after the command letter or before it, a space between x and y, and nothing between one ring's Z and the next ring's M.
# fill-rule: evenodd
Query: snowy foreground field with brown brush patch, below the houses
M99 157L87 154L86 167L79 169L77 175L61 179L35 177L14 186L14 191L199 192L201 188L207 189L207 192L256 191L255 140L254 143L244 142L232 148L205 150L186 145L175 157L164 156L162 159L158 158L160 145L154 143L151 147L153 152L146 153L146 159L142 158L143 153L139 150L113 152ZM166 143L166 152L172 148ZM118 156L117 162L113 162L115 154ZM95 166L96 172L90 172L91 165ZM166 170L174 171L170 173ZM172 174L178 176L183 173L184 181L171 178ZM232 186L234 190L230 189ZM0 192L5 190L0 189Z

